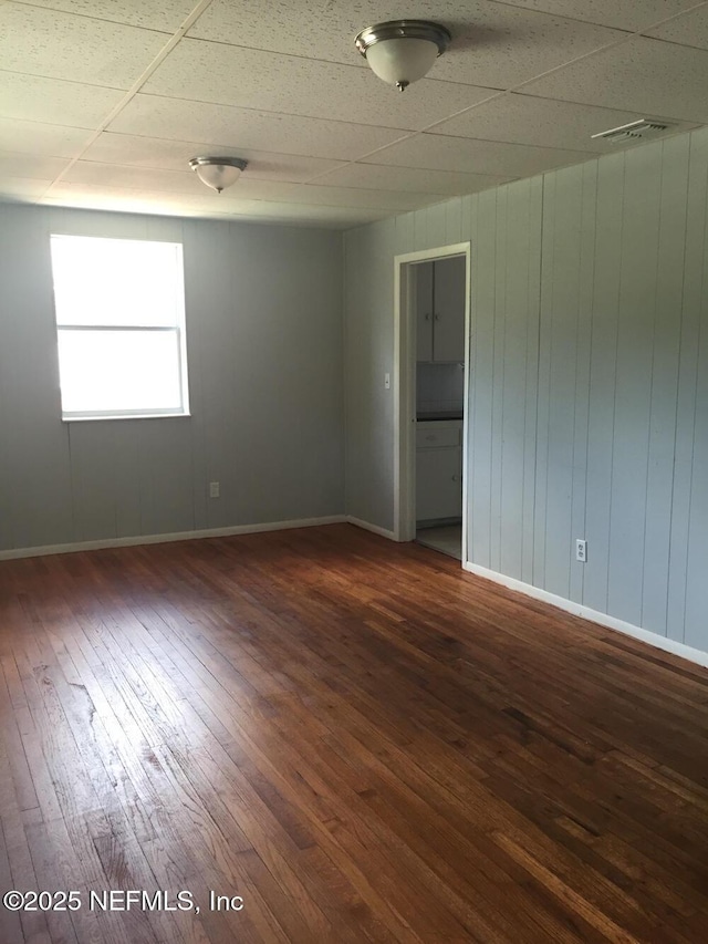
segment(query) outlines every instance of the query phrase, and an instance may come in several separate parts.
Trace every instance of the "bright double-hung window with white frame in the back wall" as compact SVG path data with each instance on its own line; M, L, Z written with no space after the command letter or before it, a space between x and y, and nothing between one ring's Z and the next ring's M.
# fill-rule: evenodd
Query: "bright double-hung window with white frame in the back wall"
M63 419L189 412L181 246L52 236Z

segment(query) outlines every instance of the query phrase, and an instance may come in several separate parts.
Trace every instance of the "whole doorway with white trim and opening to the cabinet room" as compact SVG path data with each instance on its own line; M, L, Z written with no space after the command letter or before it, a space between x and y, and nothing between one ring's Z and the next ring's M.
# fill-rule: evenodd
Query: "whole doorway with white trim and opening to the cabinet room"
M470 243L395 258L396 540L467 560ZM458 319L452 323L454 319Z

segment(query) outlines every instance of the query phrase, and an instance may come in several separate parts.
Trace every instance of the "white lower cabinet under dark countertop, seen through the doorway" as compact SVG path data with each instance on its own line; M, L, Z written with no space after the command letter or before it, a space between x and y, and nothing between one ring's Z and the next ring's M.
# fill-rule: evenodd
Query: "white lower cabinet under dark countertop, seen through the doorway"
M462 423L416 424L416 520L462 517Z

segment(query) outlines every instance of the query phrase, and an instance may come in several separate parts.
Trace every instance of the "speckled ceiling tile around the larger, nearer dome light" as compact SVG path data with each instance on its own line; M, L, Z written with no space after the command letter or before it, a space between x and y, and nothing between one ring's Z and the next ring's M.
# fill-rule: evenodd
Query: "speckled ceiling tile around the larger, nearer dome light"
M435 19L450 30L452 43L430 77L494 89L507 89L617 38L592 23L489 0L436 0L434 10L429 0L409 0L402 12L382 10L381 0L275 0L268 6L266 18L257 3L214 0L189 35L365 66L354 46L365 27L394 15Z

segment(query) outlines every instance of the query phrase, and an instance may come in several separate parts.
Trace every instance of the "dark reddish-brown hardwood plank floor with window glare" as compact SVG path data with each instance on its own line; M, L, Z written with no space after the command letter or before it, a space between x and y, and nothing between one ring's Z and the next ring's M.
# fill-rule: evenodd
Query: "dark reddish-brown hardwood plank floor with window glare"
M347 525L7 561L0 624L1 890L81 904L2 944L708 941L708 671Z

